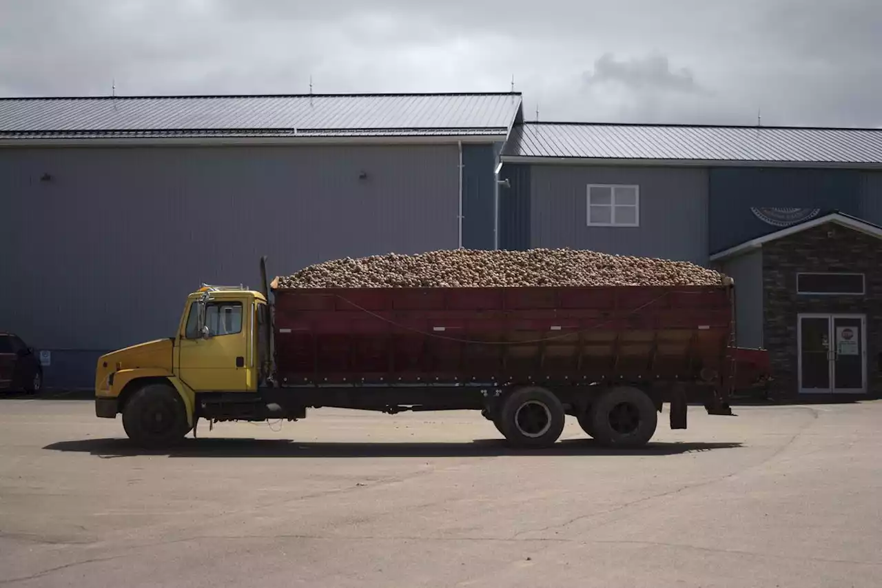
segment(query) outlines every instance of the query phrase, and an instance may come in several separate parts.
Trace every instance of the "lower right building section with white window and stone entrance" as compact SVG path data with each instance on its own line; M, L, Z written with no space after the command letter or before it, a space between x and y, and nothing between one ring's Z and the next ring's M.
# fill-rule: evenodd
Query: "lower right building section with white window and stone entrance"
M829 318L826 334L818 333L829 342L837 320L863 315L863 385L846 388L882 392L871 389L882 382L882 326L874 318L882 292L871 287L882 268L863 262L882 247L874 240L882 235L882 130L525 123L512 129L501 161L500 177L511 185L499 198L503 248L569 246L721 268L736 280L738 344L769 348L785 394L825 387L807 387L814 376L796 373L811 364L796 340L804 316ZM796 237L818 219L839 236L823 248L817 238ZM785 237L799 244L801 258L764 261L763 243L781 249ZM865 287L797 291L796 275L806 272L863 275ZM787 285L776 285L779 278ZM769 305L770 292L786 304ZM842 391L835 373L833 363L831 392Z

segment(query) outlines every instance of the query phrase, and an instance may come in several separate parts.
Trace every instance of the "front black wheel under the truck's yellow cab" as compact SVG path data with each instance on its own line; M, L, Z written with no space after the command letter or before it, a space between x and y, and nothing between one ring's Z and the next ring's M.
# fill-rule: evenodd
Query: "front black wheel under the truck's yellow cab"
M147 384L123 407L125 434L145 449L176 445L190 430L187 411L177 390L168 384Z

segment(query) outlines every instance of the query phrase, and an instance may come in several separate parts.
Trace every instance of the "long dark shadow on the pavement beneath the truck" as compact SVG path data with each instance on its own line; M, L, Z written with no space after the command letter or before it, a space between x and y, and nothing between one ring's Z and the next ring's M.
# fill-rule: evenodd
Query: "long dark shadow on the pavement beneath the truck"
M489 456L671 456L683 453L736 449L741 443L654 442L640 449L608 449L593 439L559 441L549 449L514 449L502 439L462 443L324 443L288 439L186 439L172 449L139 449L127 439L58 441L43 449L89 453L102 458L168 457L489 457Z

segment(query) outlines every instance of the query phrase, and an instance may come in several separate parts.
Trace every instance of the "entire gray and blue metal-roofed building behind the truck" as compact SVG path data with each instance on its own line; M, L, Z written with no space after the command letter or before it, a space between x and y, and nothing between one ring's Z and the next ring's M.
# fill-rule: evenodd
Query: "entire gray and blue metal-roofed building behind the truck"
M51 351L49 385L262 254L565 246L735 277L738 343L785 393L882 386L879 130L527 123L519 94L0 99L0 193L0 328Z

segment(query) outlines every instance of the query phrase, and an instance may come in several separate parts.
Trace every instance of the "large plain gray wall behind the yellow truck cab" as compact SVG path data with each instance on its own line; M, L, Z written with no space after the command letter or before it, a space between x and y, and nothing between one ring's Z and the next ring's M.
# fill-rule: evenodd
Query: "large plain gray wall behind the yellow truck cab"
M0 329L116 349L172 334L199 283L256 287L262 254L289 273L455 247L457 164L456 146L2 149Z

